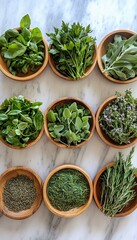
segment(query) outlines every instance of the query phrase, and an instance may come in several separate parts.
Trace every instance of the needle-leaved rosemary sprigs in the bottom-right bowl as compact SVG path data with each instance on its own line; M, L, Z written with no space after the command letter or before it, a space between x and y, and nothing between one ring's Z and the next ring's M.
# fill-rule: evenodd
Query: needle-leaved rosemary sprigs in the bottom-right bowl
M101 175L101 206L107 216L114 217L137 195L134 190L137 182L131 163L133 153L134 148L126 160L123 154L119 153L114 166L108 167Z

